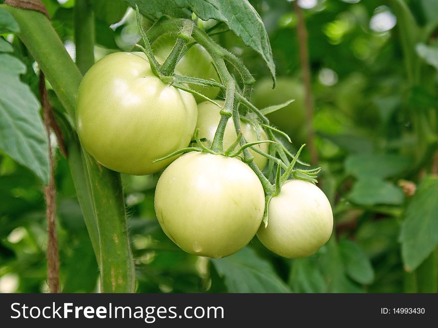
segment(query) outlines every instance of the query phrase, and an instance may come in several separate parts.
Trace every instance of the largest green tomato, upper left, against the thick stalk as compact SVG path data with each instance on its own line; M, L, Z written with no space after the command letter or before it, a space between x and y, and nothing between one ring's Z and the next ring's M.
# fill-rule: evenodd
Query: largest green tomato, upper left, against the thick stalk
M190 93L163 83L143 53L117 52L94 64L81 82L78 133L102 165L127 174L157 172L187 147L198 110Z

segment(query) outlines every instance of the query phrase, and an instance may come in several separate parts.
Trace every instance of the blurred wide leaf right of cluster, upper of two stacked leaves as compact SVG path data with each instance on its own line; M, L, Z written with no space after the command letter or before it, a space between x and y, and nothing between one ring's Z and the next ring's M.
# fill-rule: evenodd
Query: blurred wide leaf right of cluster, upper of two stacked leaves
M409 168L409 157L392 154L352 155L345 160L345 171L356 178L388 178Z

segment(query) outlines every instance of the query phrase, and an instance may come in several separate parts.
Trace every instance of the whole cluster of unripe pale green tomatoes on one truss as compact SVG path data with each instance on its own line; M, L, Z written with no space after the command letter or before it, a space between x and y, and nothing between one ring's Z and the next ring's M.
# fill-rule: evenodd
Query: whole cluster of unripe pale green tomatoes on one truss
M207 70L185 71L185 57L177 69L185 75L218 79L205 49L191 49L185 62L206 61ZM167 46L156 47L163 56L169 51ZM211 98L218 95L214 88L199 92ZM217 103L223 106L223 101ZM186 252L221 258L237 252L257 234L268 249L284 257L315 253L329 239L333 225L329 201L315 185L286 182L270 201L265 227L262 184L237 157L189 152L152 163L187 147L196 129L200 138L212 142L219 110L210 102L197 105L192 94L162 82L144 54L120 52L99 60L84 77L77 100L77 129L85 149L111 170L146 175L165 168L156 186L155 212L166 235ZM263 130L258 138L250 123L240 121L240 126L247 142L268 139ZM230 119L223 148L236 138ZM254 147L268 152L267 143ZM250 152L262 170L267 159L253 149Z

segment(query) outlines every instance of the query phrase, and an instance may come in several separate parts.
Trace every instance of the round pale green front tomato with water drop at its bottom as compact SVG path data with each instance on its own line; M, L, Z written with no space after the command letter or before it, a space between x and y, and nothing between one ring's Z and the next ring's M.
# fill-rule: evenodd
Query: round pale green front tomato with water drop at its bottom
M255 173L235 158L191 152L158 180L155 213L166 235L190 254L220 258L245 246L263 218Z

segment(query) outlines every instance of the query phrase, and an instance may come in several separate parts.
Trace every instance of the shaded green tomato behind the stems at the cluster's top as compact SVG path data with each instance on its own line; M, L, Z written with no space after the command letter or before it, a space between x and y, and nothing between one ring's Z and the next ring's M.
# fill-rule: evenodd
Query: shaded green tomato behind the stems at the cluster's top
M170 34L165 34L159 37L152 45L155 55L161 58L166 58L175 44L175 37ZM178 74L192 76L195 78L210 80L213 79L219 82L219 76L213 65L213 59L207 50L200 44L193 45L180 59L175 70ZM215 99L219 94L219 88L203 87L198 85L190 85L190 88L207 96L210 99ZM195 96L195 100L199 103L205 99Z

